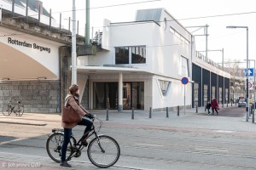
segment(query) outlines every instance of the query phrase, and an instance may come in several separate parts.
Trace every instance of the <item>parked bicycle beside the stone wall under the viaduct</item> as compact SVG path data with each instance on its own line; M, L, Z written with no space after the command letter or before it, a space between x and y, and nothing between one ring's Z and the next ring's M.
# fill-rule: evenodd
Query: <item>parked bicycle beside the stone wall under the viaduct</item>
M7 105L3 105L3 115L9 116L12 112L16 114L16 116L22 116L24 113L24 105L20 105L20 101L17 101L16 105L12 105L12 100L9 100Z

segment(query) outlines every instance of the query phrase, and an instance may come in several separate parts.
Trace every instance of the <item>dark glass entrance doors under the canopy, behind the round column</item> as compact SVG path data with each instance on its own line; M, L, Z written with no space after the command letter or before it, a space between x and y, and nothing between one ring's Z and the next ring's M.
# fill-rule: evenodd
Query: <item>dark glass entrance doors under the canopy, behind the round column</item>
M93 109L118 109L118 82L93 84ZM144 109L144 82L123 83L123 109Z

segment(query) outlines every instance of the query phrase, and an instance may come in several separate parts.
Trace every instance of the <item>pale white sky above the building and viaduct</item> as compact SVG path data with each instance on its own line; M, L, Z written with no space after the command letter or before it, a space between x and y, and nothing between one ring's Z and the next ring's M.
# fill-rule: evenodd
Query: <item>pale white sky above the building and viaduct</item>
M68 17L72 18L73 0L42 2L44 8L51 8L56 19L61 12L63 25L67 24ZM244 62L244 59L247 59L247 30L227 29L226 26L248 27L248 58L256 59L255 7L254 0L90 0L90 28L93 27L94 32L102 29L103 19L111 22L133 21L137 9L166 8L179 23L193 32L197 51L206 51L206 37L197 35L203 35L205 32L202 26L208 25L208 57L220 63L222 52L218 50L224 49L224 63L234 60ZM76 0L79 34L82 35L85 27L85 8L85 0ZM253 65L251 62L250 67Z

